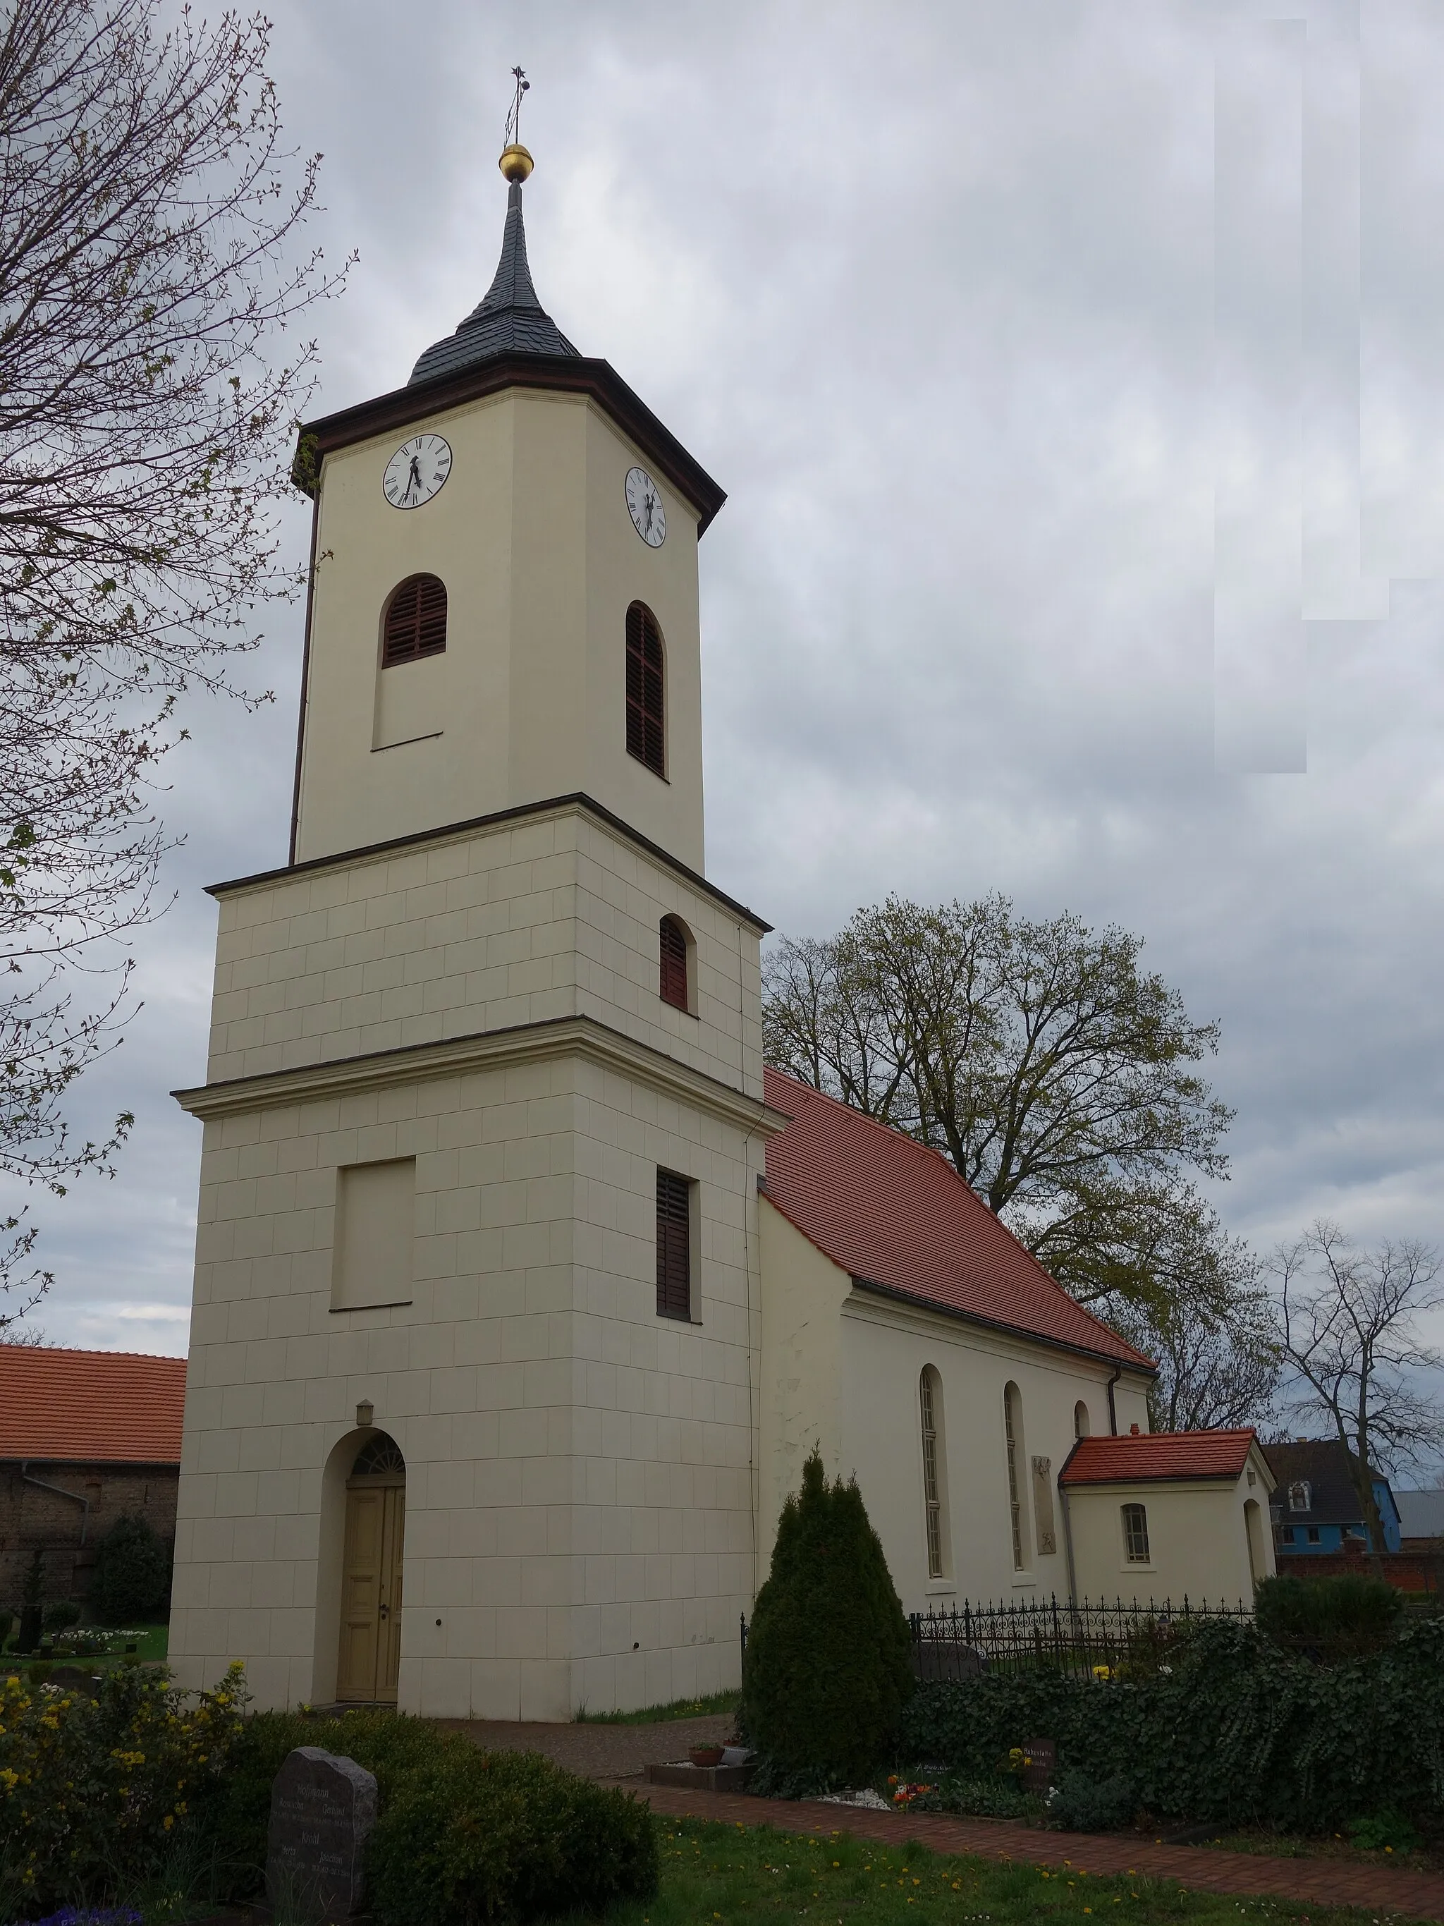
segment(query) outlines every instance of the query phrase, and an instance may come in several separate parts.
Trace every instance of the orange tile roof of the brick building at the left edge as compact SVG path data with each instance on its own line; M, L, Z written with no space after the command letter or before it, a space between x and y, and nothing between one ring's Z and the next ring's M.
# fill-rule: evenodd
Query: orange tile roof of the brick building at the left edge
M0 1344L0 1458L179 1464L185 1358Z

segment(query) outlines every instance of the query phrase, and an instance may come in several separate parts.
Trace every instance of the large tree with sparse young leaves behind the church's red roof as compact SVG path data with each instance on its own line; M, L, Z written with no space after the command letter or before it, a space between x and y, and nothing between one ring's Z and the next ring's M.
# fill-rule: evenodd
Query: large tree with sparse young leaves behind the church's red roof
M890 898L772 948L768 1061L941 1150L1080 1302L1223 1315L1236 1254L1194 1183L1226 1175L1194 1069L1219 1032L1140 950L1001 896Z

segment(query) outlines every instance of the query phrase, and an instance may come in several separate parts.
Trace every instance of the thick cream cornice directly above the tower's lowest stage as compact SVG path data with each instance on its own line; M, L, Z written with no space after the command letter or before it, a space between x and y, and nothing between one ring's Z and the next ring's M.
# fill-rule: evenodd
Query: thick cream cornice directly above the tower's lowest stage
M624 1036L620 1030L597 1023L595 1017L554 1017L549 1023L528 1023L510 1030L481 1030L472 1036L449 1036L435 1044L377 1050L364 1057L298 1063L295 1069L266 1071L260 1077L235 1077L193 1090L171 1090L171 1096L193 1117L210 1121L212 1117L239 1117L254 1109L275 1109L281 1104L314 1104L333 1096L356 1096L364 1090L385 1090L408 1082L435 1082L441 1077L547 1063L556 1057L585 1057L601 1069L620 1071L664 1096L766 1136L774 1136L787 1123L782 1111L772 1109L761 1098L749 1098L705 1071L678 1063L660 1050L653 1050L651 1044L639 1044L633 1036Z

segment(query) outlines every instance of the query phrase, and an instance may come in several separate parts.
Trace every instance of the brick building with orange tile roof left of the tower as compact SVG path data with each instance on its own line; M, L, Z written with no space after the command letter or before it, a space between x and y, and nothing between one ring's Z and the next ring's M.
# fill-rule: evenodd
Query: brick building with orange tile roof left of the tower
M175 1535L185 1358L0 1344L0 1602L37 1549L46 1599L85 1599L121 1516Z

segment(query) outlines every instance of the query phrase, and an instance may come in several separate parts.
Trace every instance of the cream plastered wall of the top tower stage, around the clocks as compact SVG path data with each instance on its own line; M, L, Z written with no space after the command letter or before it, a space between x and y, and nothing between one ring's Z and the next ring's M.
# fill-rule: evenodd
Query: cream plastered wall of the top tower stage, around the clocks
M701 871L697 512L657 478L666 541L639 539L624 482L645 456L585 395L506 389L418 426L452 447L420 508L381 493L404 431L322 466L298 861L580 790ZM385 601L418 572L447 586L447 651L381 670ZM664 638L666 780L626 753L632 601ZM399 678L422 693L379 703Z

